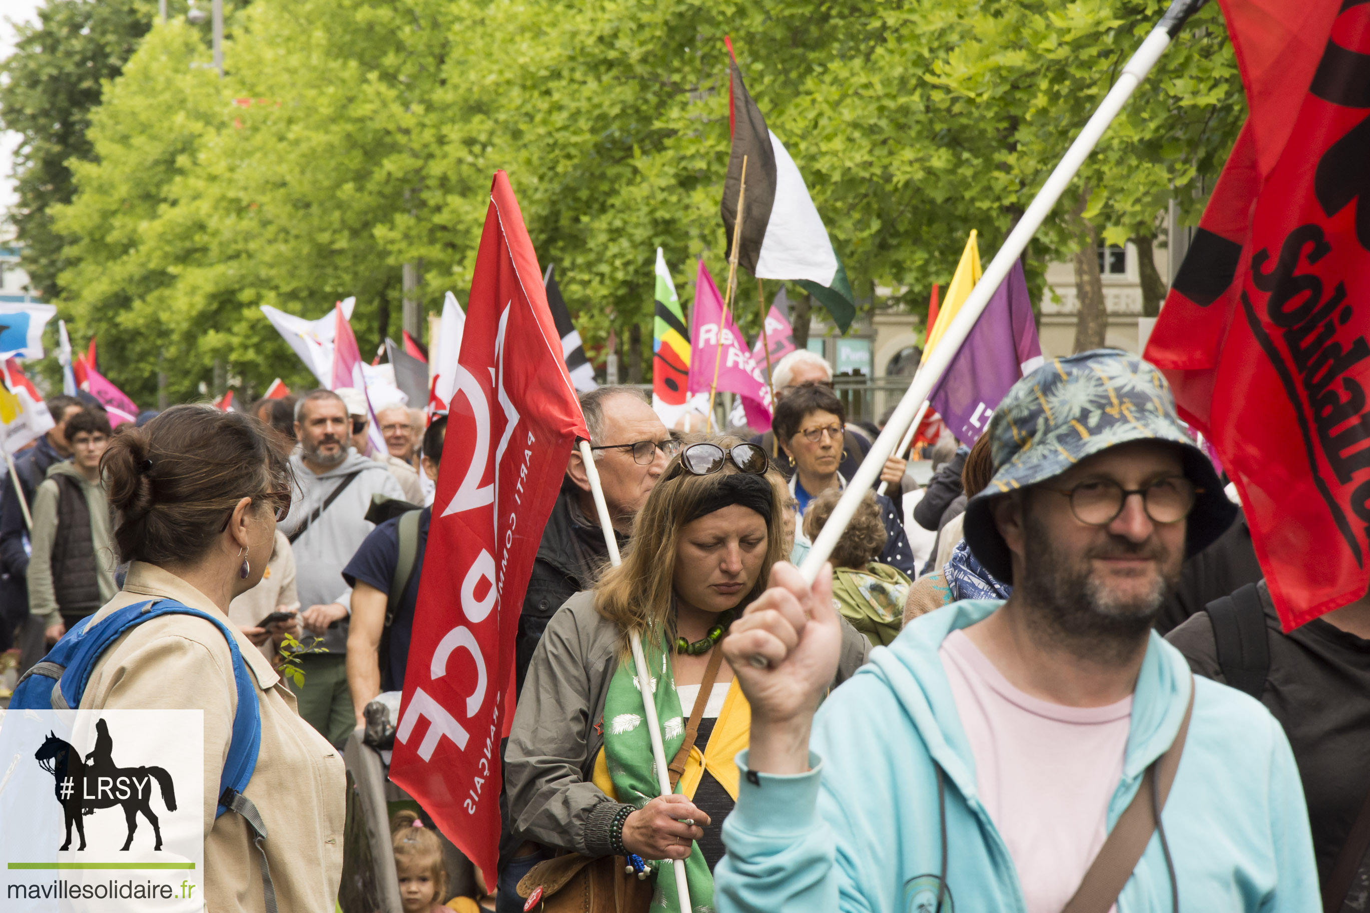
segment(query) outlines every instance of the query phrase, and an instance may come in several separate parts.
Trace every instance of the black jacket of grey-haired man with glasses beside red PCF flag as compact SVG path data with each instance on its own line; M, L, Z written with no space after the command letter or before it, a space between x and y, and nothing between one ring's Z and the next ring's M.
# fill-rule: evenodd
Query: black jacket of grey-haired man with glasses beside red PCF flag
M552 513L543 527L543 542L537 546L533 560L533 574L527 579L527 593L523 595L523 612L518 621L515 639L515 664L518 669L516 687L523 691L523 678L533 650L547 630L556 610L569 598L595 586L600 571L608 565L608 548L599 524L592 524L575 506L580 491L569 480L562 480L562 493L556 497ZM618 548L627 545L627 537L614 534Z

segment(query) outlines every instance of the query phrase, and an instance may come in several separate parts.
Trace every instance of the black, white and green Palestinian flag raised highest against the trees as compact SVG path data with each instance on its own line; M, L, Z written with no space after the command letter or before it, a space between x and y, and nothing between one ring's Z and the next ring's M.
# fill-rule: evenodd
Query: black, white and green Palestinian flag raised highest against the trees
M727 44L727 123L733 153L723 182L723 227L727 255L733 253L733 226L737 220L737 193L747 157L747 192L743 197L743 233L737 263L758 279L799 282L827 308L833 323L845 331L856 316L856 304L847 270L827 240L827 229L808 196L799 167L784 144L766 127L766 118L743 83L733 42Z

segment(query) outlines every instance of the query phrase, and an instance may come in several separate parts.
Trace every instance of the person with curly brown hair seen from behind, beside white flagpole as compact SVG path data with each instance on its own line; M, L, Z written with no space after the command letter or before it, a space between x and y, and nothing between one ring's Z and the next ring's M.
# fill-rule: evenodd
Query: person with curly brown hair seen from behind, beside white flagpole
M832 516L840 489L827 489L804 512L810 542ZM911 580L899 568L875 561L885 549L885 524L871 491L866 493L847 531L833 549L833 605L873 646L886 646L903 626L904 600Z

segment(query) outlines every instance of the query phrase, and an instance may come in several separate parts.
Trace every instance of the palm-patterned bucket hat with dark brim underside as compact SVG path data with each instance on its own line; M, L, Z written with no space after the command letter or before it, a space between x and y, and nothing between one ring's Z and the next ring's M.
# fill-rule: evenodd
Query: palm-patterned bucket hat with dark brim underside
M1199 489L1186 556L1207 548L1237 516L1212 463L1180 422L1160 371L1117 349L1047 361L1008 390L985 434L995 475L966 505L962 528L975 560L1000 580L1012 579L1012 563L991 502L1119 443L1169 441L1182 448L1185 475Z

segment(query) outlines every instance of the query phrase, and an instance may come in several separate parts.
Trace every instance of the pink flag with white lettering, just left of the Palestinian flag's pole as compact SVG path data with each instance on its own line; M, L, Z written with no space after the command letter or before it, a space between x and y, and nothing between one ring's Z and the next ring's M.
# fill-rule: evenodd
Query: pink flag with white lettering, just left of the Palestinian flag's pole
M689 391L708 393L714 382L714 364L722 359L718 368L718 389L743 397L747 411L747 424L756 431L769 431L771 419L770 387L766 374L756 367L756 360L747 350L747 337L743 335L733 315L722 329L719 346L719 322L723 318L723 298L712 277L699 261L695 277L695 316L690 326Z

